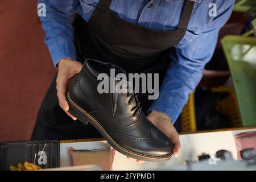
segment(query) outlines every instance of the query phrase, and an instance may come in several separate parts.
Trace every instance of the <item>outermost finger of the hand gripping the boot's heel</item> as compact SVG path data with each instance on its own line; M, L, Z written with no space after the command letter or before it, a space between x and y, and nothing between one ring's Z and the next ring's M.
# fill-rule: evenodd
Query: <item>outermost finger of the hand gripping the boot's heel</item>
M59 78L57 80L57 85L56 85L57 97L59 99L60 107L65 111L68 111L69 109L68 102L65 96L67 92L67 85L68 85L67 78Z

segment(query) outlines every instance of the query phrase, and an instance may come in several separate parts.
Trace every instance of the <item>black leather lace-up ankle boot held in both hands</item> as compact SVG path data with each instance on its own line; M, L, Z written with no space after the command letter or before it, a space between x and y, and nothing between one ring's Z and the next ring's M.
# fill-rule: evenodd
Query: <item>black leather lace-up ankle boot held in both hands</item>
M160 161L172 156L172 143L141 111L135 93L98 93L99 73L125 73L117 65L85 60L67 93L69 112L92 123L118 152L131 158Z

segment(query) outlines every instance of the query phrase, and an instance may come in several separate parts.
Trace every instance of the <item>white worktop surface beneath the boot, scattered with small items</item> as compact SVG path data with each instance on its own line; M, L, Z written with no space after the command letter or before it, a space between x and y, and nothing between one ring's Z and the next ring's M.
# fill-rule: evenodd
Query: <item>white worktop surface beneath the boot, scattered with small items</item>
M171 169L176 165L183 164L184 160L196 159L203 152L214 154L218 150L228 150L232 152L233 158L237 159L236 143L234 135L244 133L246 131L256 131L256 129L236 130L236 131L217 131L209 133L180 135L181 151L178 158L172 158L167 162L153 163L144 162L138 164L135 159L128 160L126 156L115 152L113 163L114 170L156 170ZM97 142L76 142L60 144L60 166L70 166L69 148L73 147L77 150L110 148L106 141Z

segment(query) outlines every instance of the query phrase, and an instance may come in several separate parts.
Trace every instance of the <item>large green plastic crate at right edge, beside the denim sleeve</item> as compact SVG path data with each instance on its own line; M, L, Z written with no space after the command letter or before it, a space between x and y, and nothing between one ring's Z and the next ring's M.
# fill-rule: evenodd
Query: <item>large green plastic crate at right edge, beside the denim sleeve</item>
M256 126L256 38L228 35L221 43L232 74L243 126Z

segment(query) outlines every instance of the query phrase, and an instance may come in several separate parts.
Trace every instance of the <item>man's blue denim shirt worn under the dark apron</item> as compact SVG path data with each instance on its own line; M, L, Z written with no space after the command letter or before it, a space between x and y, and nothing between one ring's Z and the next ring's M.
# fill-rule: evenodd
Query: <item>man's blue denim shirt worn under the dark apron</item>
M76 60L71 25L73 16L77 12L88 21L98 1L38 1L46 5L46 16L40 19L46 32L44 42L55 66L67 57ZM176 44L175 51L170 53L170 66L160 88L159 97L150 107L150 110L167 114L173 122L179 117L189 93L193 92L201 80L204 66L211 59L216 47L218 31L232 13L235 0L194 1L195 6L187 32ZM210 3L216 5L214 16L209 13L213 12ZM110 9L127 22L152 30L170 31L177 28L183 4L184 0L113 0Z

